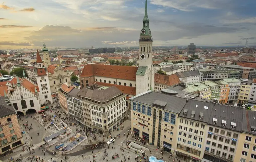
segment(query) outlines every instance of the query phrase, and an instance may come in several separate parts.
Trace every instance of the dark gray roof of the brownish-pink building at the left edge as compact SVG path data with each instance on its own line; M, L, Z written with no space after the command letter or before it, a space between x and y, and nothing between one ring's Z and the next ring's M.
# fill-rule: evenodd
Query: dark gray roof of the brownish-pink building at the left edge
M9 103L10 101L7 97L0 96L0 118L16 114L15 109Z

